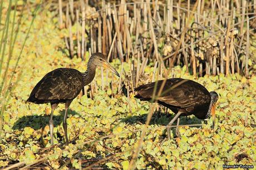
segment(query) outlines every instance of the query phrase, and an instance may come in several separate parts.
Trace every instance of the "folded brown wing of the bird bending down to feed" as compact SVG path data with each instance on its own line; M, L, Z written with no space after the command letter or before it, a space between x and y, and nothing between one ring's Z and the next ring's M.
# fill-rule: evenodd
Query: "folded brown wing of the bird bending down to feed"
M157 83L156 94L160 91L162 83L163 81ZM135 91L138 94L135 97L147 98L146 100L149 101L152 97L154 86L155 82L136 88ZM157 100L171 106L185 108L186 111L190 112L199 103L204 104L210 101L208 93L207 89L199 83L187 79L172 78L166 81L163 91Z

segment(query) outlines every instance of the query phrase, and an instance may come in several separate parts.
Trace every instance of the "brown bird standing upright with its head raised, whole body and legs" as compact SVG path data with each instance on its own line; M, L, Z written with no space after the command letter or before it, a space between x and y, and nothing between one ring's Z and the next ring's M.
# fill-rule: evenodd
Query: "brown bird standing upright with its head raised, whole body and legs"
M91 83L95 77L96 67L103 66L110 69L116 76L119 73L106 61L102 53L94 53L89 58L87 70L84 73L73 68L57 68L45 75L40 82L33 88L27 102L36 104L51 103L50 117L50 136L51 145L53 146L53 112L59 103L65 103L65 116L63 118L63 129L65 132L66 144L67 137L67 109L71 102L81 92L83 86Z

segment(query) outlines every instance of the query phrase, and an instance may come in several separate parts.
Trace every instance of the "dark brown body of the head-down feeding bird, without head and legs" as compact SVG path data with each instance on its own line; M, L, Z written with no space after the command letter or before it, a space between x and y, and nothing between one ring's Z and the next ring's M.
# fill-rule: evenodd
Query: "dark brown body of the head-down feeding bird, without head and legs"
M155 83L149 83L135 88L136 98L142 101L151 101ZM156 84L156 95L160 91L163 80ZM163 91L157 98L157 102L170 108L174 112L183 109L184 113L195 114L203 119L203 112L208 111L210 94L201 84L189 79L171 78L167 79Z

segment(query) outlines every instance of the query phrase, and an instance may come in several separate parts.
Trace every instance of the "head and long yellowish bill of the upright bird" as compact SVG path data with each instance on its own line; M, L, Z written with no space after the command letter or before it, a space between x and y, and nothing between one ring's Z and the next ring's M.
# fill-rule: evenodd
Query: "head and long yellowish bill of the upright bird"
M105 67L107 69L110 69L111 72L116 74L116 76L120 77L119 73L116 71L114 67L110 65L109 62L107 62L106 56L102 53L93 53L88 61L88 64L93 64L94 66Z

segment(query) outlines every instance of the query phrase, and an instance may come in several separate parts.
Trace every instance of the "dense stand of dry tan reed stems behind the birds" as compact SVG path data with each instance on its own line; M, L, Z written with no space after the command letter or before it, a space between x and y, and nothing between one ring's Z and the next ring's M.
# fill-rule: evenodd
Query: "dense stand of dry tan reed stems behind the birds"
M146 64L186 67L195 76L249 76L255 58L256 1L58 1L68 56L94 52L130 62L139 80ZM88 54L89 55L88 55ZM137 84L137 83L136 83Z

